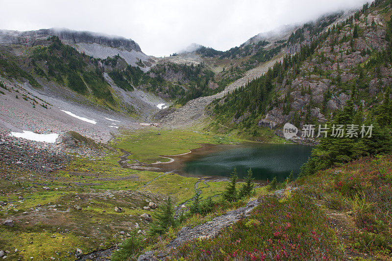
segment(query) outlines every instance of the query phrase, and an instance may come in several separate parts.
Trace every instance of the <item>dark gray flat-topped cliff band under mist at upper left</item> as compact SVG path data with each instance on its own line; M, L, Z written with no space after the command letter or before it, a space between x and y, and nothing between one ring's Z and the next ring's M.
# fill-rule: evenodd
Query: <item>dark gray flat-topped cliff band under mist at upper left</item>
M112 48L122 47L127 51L135 50L137 52L142 52L139 44L131 39L88 31L74 31L55 28L25 32L0 30L0 43L14 43L33 46L39 44L37 39L44 40L49 36L58 36L60 40L64 40L68 43L98 43Z

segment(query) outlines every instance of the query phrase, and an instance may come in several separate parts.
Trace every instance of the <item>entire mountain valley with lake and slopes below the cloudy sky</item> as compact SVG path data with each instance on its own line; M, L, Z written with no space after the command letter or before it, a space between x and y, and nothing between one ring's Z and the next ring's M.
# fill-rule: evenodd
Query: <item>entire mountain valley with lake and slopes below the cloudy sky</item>
M392 260L391 14L169 57L0 30L0 258Z

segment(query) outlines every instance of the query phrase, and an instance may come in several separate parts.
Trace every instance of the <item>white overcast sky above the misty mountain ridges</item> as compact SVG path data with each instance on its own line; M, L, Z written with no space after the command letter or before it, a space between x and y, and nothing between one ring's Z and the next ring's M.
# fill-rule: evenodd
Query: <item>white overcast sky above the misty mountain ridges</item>
M65 27L131 38L148 55L191 43L227 50L285 24L366 0L0 0L0 29Z

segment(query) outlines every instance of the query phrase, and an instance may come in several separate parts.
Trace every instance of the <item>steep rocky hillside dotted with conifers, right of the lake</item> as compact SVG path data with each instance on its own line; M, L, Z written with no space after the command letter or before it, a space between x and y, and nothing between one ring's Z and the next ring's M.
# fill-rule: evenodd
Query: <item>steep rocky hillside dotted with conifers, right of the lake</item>
M216 100L211 113L234 128L298 128L325 123L343 109L353 91L354 107L365 115L389 91L390 7L373 3L346 20L340 15L305 24L288 39L288 54L266 76ZM377 111L372 112L373 115ZM282 133L280 134L282 135Z

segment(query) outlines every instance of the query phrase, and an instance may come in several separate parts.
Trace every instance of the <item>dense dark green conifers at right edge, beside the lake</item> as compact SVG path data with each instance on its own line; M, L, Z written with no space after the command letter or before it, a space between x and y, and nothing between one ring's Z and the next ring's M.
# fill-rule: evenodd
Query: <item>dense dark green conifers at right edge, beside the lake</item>
M334 119L327 123L329 128L327 137L322 137L320 143L312 151L309 160L302 166L301 176L315 174L317 171L329 168L335 164L346 163L361 156L391 153L392 151L392 103L391 91L385 92L384 101L376 109L370 109L364 119L362 106L354 109L355 91L347 101L343 110L339 111ZM362 125L372 125L371 137L333 137L333 125L354 124L361 128Z

